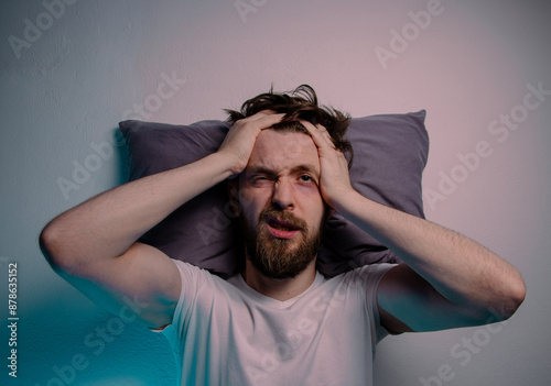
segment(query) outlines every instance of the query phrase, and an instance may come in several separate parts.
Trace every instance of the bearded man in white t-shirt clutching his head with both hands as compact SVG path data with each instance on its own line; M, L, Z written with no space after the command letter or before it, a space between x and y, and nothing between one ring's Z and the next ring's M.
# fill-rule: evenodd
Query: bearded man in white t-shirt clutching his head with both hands
M375 345L388 332L499 321L522 302L510 264L353 189L348 118L317 106L310 87L258 96L230 118L216 153L101 194L41 234L52 266L96 302L141 306L140 320L171 341L182 384L371 385ZM245 236L239 275L226 282L137 242L227 178ZM323 278L315 258L333 210L406 264Z

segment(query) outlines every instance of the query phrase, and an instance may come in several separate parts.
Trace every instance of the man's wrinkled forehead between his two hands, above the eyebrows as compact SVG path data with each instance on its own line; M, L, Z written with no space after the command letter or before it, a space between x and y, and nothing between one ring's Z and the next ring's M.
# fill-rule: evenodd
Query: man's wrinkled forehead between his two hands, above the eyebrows
M267 129L258 135L247 166L280 172L301 165L320 170L317 147L310 135Z

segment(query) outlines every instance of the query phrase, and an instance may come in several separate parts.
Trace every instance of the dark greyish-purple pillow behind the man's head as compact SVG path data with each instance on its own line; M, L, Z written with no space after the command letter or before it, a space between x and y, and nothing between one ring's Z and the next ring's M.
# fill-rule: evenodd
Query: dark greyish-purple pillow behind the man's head
M354 147L354 188L377 202L424 218L421 177L429 154L425 111L353 118L347 137ZM130 180L168 170L216 152L229 129L223 121L173 125L122 121L130 155ZM176 209L141 242L172 258L229 277L238 269L239 235L224 181ZM318 269L335 276L374 263L396 263L385 245L335 213L327 222Z

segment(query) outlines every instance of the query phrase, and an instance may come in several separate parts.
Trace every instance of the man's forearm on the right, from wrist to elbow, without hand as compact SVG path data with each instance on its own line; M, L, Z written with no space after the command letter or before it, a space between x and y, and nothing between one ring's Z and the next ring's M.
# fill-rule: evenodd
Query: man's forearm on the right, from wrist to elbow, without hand
M519 272L477 242L356 191L339 202L335 209L387 245L450 301L507 316L522 300Z

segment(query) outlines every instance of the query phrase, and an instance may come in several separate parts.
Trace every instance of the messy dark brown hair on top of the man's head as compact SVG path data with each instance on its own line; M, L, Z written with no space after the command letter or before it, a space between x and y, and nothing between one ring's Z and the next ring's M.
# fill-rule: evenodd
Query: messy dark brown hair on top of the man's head
M284 113L280 123L270 129L283 131L301 131L307 134L306 129L296 120L302 119L312 124L320 123L331 135L336 148L349 156L349 165L353 159L353 148L349 141L345 139L346 129L350 123L350 115L317 103L317 96L309 85L301 85L293 91L273 92L270 91L245 101L240 111L226 109L228 122L253 115L262 110L272 110L276 113Z

